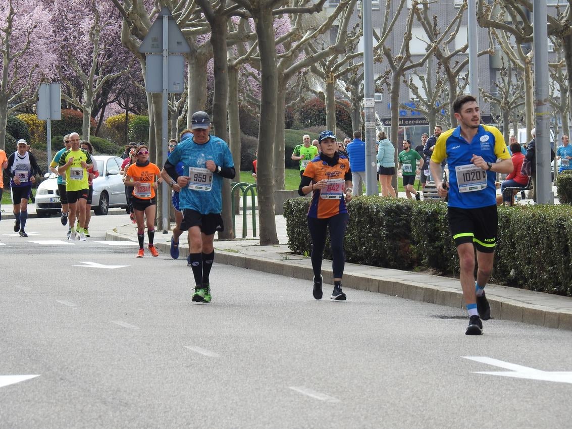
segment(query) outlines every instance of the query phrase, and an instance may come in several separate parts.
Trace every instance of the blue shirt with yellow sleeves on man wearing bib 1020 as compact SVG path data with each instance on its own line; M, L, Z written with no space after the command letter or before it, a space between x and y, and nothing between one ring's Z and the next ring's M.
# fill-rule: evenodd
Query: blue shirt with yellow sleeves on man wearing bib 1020
M480 125L468 143L460 134L460 126L442 133L435 145L431 162L440 164L447 158L449 167L449 206L462 209L496 204L496 173L475 167L473 155L486 162L507 160L510 154L505 139L494 126Z

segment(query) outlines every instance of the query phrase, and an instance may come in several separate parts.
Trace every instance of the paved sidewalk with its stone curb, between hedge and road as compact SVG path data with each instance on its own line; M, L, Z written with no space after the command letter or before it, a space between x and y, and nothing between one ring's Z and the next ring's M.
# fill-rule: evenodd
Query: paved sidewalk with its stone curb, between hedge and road
M237 236L242 235L242 216L236 217ZM252 218L247 216L248 235L252 237ZM257 222L257 225L259 223ZM283 216L276 216L276 230L279 245L260 245L259 239L215 240L215 261L236 267L281 274L308 280L311 290L312 265L308 257L292 255L288 249L286 223ZM169 254L171 234L157 232L155 241L160 252ZM181 236L181 264L186 263L188 245L185 235ZM118 225L106 233L106 240L137 241L133 224ZM134 257L134 256L133 256ZM331 264L324 261L324 283L332 283ZM400 271L398 269L369 267L367 265L345 264L345 288L386 293L406 299L462 308L463 294L458 279L440 277L426 273ZM550 295L543 292L526 291L500 285L488 284L488 302L494 319L522 321L548 328L572 330L572 298Z

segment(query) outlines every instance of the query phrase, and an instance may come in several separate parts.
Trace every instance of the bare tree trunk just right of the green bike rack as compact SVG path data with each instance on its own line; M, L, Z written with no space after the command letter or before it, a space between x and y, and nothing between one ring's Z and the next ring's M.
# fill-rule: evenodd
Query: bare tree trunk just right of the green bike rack
M276 135L276 98L278 78L272 10L258 4L253 10L258 36L261 69L260 125L258 138L258 203L260 244L278 244L274 208L273 139Z

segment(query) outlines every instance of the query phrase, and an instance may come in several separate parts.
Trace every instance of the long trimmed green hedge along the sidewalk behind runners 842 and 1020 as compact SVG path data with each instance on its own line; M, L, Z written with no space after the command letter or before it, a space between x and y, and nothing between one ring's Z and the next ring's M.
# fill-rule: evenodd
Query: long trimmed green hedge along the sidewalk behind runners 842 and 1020
M288 246L309 255L308 198L284 202ZM394 269L432 269L458 276L459 259L444 202L354 197L348 204L345 260ZM499 207L491 283L572 296L572 207ZM331 259L329 241L325 257Z

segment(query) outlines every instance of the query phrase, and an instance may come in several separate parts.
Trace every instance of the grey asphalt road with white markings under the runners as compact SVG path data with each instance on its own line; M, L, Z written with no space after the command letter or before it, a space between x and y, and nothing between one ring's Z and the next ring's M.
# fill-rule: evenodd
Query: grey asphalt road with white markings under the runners
M220 264L195 304L184 260L105 243L126 222L94 217L71 244L58 218L27 239L0 222L0 427L570 427L571 332L465 336L462 309L315 301L309 281Z

